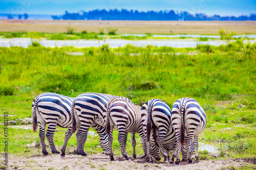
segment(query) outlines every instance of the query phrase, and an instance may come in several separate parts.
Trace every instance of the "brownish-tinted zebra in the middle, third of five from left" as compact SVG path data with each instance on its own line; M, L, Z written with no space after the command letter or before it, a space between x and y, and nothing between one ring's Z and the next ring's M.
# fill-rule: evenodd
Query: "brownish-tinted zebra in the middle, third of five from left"
M110 143L110 160L114 161L112 142L113 142L113 129L114 127L118 129L118 142L121 147L121 152L126 160L128 158L125 152L126 134L130 133L132 137L133 146L133 158L136 159L136 139L135 133L139 133L141 139L143 140L143 131L141 123L141 113L140 106L129 103L123 99L111 99L105 105L106 110L103 110L103 115L106 116L106 133L109 135Z

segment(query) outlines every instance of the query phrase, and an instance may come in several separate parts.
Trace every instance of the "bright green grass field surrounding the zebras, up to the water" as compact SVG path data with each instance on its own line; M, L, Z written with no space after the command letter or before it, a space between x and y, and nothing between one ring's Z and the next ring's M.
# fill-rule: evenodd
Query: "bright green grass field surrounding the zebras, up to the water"
M198 54L186 54L191 51ZM71 56L67 52L84 52L84 55ZM197 48L0 47L0 111L13 115L9 120L31 117L32 101L42 92L73 97L83 92L109 93L130 98L138 105L158 98L170 107L179 98L191 97L200 103L208 119L200 142L220 145L217 158L205 151L200 152L201 160L253 158L256 156L255 53L256 44L243 44L242 40ZM60 150L66 129L58 130L54 142ZM114 135L114 152L121 155L117 131ZM10 154L41 154L39 147L28 147L39 142L38 131L9 127L9 136ZM140 143L138 135L137 141ZM73 135L68 152L75 147ZM1 153L3 148L1 142ZM49 146L47 149L50 150ZM97 136L89 136L85 150L89 154L102 152ZM127 152L132 155L130 142ZM143 154L140 144L137 154Z

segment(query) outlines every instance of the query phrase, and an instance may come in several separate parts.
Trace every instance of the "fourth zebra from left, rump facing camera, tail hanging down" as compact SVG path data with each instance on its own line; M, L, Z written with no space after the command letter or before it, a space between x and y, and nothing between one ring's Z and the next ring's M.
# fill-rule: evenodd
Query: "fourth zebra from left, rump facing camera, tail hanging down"
M163 147L163 139L166 137L166 134L169 130L172 130L172 125L170 123L170 113L171 110L169 106L159 99L152 99L147 101L141 108L141 116L143 123L143 133L146 142L146 150L147 162L152 162L150 157L150 137L151 130L158 129L159 133L156 137L156 143L159 146L161 152L164 156L164 163L168 162L168 155ZM171 134L171 138L169 139L169 143L175 143L176 138L174 134Z

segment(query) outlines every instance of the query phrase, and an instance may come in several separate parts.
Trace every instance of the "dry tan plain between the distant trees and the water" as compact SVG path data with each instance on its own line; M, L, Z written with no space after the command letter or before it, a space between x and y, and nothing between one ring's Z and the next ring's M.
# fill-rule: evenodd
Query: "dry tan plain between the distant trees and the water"
M75 32L98 33L117 28L117 33L141 34L218 34L221 28L237 34L256 34L255 21L103 21L103 20L0 20L2 32L64 33L68 26Z

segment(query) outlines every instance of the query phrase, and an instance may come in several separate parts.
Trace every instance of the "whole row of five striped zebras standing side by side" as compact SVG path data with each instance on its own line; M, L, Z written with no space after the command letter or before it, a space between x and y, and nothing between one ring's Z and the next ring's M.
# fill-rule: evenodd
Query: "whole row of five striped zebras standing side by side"
M118 142L123 157L129 160L125 151L127 133L131 134L133 158L136 158L135 133L141 138L144 156L147 162L152 158L159 161L161 153L164 163L176 164L182 161L192 162L191 155L198 156L198 135L206 126L206 115L195 99L182 98L177 100L172 110L158 99L147 101L142 108L134 105L130 99L122 96L83 93L76 98L56 93L42 93L32 104L33 130L36 132L39 125L39 137L42 154L48 155L45 136L48 139L52 153L60 154L53 143L56 126L69 128L61 148L61 156L65 156L68 140L77 130L76 153L87 156L84 152L84 143L90 127L99 135L99 145L103 153L110 155L112 151L113 129L118 130ZM48 124L45 134L46 124ZM193 139L194 136L194 139ZM173 157L169 158L169 151L174 150Z

